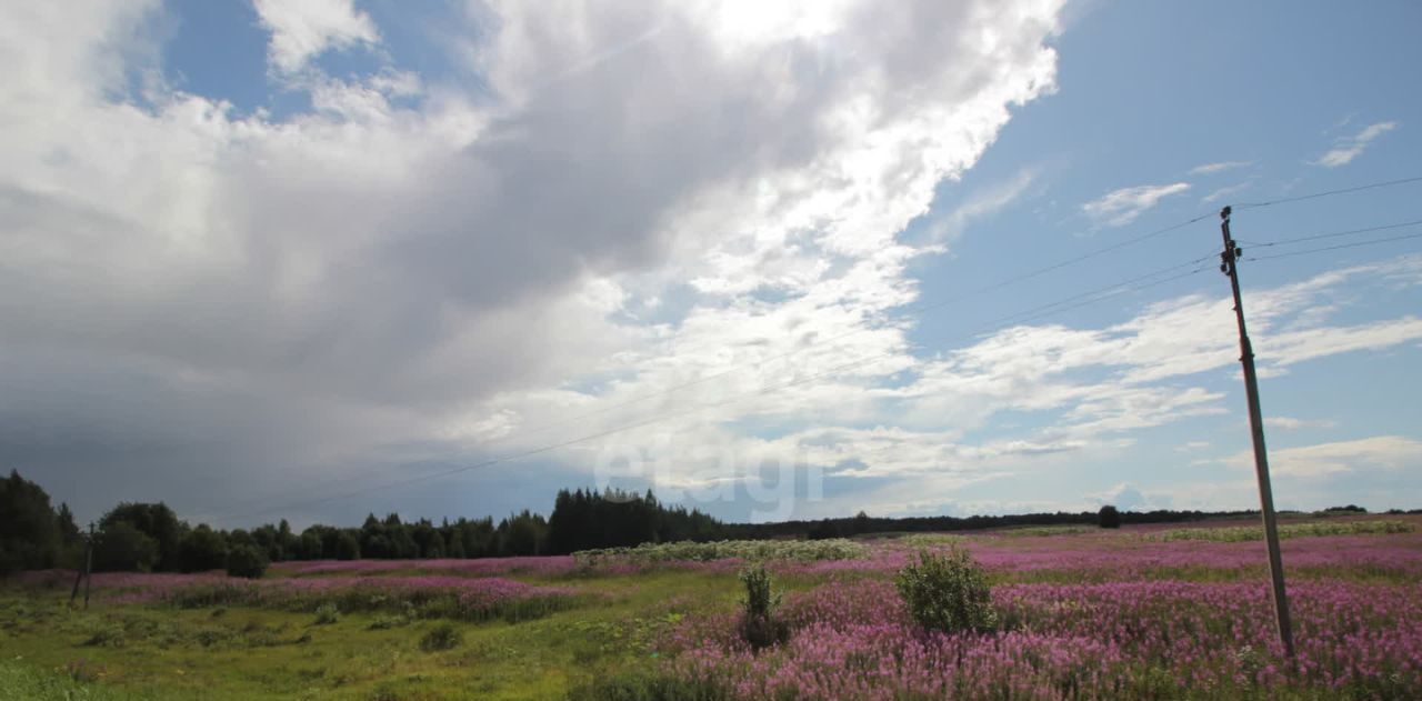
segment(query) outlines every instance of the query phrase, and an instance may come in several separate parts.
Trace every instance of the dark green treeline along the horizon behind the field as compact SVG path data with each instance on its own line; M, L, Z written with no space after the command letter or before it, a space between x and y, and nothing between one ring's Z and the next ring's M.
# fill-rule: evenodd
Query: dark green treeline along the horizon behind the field
M1105 509L1103 509L1105 510ZM1212 518L1257 516L1254 510L1113 512L1119 523L1173 523ZM1317 515L1367 513L1354 505ZM1401 513L1401 512L1399 512ZM1409 512L1415 513L1415 512ZM823 539L870 533L978 530L1012 526L1103 525L1101 512L1052 512L1005 516L909 516L722 523L707 513L665 506L646 493L562 489L547 519L523 510L498 523L491 518L401 520L374 513L360 528L314 525L300 533L286 519L253 529L219 530L181 520L165 503L119 503L98 520L94 569L137 572L208 572L260 576L272 562L508 557L567 555L594 547L677 540ZM0 481L0 574L17 570L77 567L84 536L70 508L50 503L40 485L10 472Z

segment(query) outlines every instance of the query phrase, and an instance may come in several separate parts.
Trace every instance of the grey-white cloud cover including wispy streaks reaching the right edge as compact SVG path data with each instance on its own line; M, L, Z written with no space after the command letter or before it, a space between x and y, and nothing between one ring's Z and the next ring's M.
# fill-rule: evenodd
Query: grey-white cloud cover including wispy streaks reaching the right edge
M1220 294L910 343L913 266L1037 183L903 239L1055 90L1058 1L471 3L442 77L350 1L257 10L309 109L172 88L156 3L0 10L0 462L80 509L220 513L532 451L688 499L789 465L826 515L843 485L873 513L987 509L954 495L1233 411ZM321 70L351 48L378 68ZM1187 189L1084 210L1123 226ZM1337 321L1378 280L1422 262L1251 291L1261 373L1422 340ZM1162 503L1091 489L1012 505Z

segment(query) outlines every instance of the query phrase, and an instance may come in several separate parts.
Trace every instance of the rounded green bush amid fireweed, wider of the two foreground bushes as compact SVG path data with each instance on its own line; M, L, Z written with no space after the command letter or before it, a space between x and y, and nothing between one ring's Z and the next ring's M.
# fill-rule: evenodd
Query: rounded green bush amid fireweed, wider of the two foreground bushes
M967 550L944 555L920 550L894 580L914 623L943 633L985 631L997 627L993 593L983 567Z

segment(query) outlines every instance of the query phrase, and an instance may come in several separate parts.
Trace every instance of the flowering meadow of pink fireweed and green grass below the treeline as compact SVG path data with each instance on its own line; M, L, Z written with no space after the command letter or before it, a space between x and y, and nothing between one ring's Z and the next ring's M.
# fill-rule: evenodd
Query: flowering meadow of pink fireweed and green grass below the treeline
M1422 525L1291 523L1297 658L1250 523L661 545L579 557L71 573L0 589L3 698L1422 698ZM924 633L894 573L985 567L1000 623ZM737 572L788 637L752 651Z

